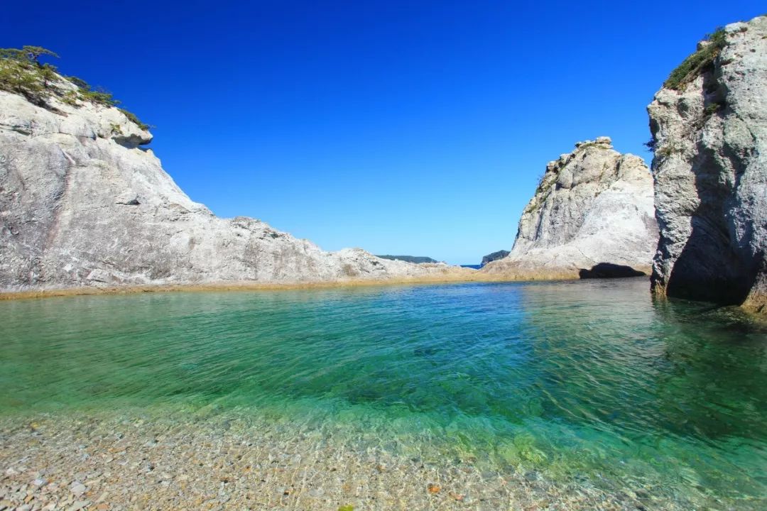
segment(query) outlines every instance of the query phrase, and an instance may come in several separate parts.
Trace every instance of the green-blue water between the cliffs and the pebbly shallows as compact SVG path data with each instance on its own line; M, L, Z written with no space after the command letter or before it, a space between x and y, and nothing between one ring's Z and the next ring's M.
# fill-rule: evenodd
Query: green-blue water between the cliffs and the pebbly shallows
M0 303L0 414L237 411L756 509L767 326L647 280ZM417 445L416 445L417 444Z

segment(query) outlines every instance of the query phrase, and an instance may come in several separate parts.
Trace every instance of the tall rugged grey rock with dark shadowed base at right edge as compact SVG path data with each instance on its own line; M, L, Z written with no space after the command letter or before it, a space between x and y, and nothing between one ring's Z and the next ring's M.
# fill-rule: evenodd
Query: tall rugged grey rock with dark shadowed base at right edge
M727 25L686 63L701 60L647 108L660 226L653 291L765 312L767 17Z

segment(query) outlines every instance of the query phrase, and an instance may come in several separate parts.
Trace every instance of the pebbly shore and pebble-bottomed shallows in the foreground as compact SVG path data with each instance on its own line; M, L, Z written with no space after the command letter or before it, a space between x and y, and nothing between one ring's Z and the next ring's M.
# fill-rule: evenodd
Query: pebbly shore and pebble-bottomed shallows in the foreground
M0 439L0 509L683 509L237 415L6 417Z

